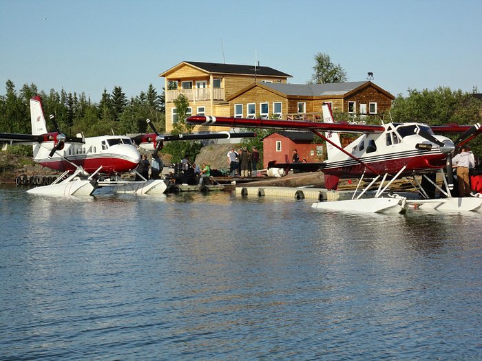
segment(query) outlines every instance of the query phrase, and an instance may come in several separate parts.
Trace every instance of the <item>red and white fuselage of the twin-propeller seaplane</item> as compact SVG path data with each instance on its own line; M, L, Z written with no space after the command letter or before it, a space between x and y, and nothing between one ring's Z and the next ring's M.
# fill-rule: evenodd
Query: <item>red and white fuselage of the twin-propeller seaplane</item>
M34 161L56 171L74 171L81 166L87 173L123 173L140 162L140 153L128 137L105 135L85 138L85 144L65 143L49 158L54 142L34 144ZM74 166L74 164L76 166Z

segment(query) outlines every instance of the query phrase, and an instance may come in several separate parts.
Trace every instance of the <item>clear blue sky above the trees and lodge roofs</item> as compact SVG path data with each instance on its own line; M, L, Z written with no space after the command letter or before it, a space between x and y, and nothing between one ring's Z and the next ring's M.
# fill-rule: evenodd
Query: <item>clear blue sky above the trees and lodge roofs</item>
M115 86L160 93L181 61L258 60L304 84L319 52L395 96L482 92L481 0L0 0L0 46L0 95L8 79L94 102Z

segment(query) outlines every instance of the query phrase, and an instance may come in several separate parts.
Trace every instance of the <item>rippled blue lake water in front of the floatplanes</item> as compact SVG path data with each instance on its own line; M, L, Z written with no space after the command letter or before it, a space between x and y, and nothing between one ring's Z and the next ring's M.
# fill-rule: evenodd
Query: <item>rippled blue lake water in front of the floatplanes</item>
M480 360L482 212L0 187L0 360Z

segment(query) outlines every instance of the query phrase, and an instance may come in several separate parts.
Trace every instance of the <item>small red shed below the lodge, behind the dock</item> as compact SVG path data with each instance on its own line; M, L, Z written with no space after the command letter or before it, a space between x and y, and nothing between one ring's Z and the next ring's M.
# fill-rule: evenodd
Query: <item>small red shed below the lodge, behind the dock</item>
M263 139L263 166L275 160L278 163L289 162L293 157L293 150L297 150L300 160L306 162L322 162L324 144L313 144L315 135L311 131L280 131L268 135Z

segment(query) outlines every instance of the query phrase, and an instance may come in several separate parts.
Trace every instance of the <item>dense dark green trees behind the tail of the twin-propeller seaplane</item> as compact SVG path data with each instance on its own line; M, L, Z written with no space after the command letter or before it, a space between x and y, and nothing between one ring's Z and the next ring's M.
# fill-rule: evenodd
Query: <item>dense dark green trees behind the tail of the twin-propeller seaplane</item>
M130 99L122 87L112 93L104 89L101 101L92 102L82 94L67 93L64 89L50 89L47 94L36 85L25 84L17 91L11 80L6 82L6 94L0 96L0 132L31 133L30 98L40 95L47 127L54 131L50 121L53 114L59 129L66 135L83 133L86 137L105 134L146 133L149 118L158 131L165 130L165 93L156 91L152 84L146 91Z

